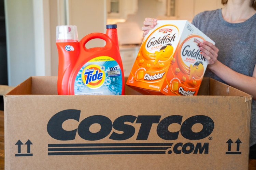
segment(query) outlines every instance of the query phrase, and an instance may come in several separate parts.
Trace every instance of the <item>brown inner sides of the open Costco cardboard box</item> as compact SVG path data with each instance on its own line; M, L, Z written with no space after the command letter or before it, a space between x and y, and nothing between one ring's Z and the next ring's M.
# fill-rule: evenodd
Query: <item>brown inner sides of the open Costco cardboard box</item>
M125 78L125 82L127 77ZM125 95L150 95L141 93L130 86L125 85ZM58 95L57 77L33 76L19 84L6 95ZM248 96L243 91L227 84L218 82L209 77L204 77L197 96ZM250 100L250 99L248 99Z

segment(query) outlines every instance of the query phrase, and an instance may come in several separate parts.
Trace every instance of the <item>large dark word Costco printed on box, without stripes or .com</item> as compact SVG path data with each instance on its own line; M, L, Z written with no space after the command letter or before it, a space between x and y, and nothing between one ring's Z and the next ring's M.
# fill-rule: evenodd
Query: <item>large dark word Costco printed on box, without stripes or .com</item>
M105 138L112 132L109 139L126 140L131 138L136 132L133 125L126 124L126 122L130 122L132 124L141 124L136 140L147 140L151 131L151 133L157 133L157 135L164 140L176 140L179 134L188 140L200 140L208 137L214 129L214 121L204 115L192 116L184 121L181 115L167 116L161 121L160 115L124 115L116 118L112 123L110 118L102 115L89 116L80 121L80 114L81 111L76 109L58 112L48 121L48 134L56 140L74 140L76 134L78 134L85 140L95 141ZM74 130L64 130L62 128L63 122L70 119L76 120L79 122L79 125ZM180 125L179 131L169 131L168 127L173 123ZM193 132L192 126L197 123L202 125L202 130L200 132ZM96 133L90 132L89 130L90 126L93 124L100 124L101 126L100 130ZM153 124L157 124L156 129L152 129ZM115 131L121 131L123 133L117 133Z

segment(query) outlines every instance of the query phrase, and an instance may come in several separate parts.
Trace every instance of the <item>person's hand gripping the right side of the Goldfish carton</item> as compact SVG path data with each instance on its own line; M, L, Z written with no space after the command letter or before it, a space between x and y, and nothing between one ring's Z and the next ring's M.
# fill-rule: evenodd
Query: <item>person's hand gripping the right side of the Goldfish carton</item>
M219 49L215 47L209 41L203 41L200 43L200 50L202 51L202 55L208 60L208 65L214 65L217 62Z

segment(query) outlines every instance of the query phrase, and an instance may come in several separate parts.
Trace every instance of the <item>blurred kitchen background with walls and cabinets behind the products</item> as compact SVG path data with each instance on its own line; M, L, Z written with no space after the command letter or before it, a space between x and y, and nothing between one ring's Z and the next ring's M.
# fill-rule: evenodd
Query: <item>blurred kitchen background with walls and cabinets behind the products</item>
M221 0L0 0L0 84L16 86L30 76L57 76L57 25L76 25L79 40L117 24L125 76L142 42L146 17L189 20L221 8ZM104 46L95 39L87 48Z

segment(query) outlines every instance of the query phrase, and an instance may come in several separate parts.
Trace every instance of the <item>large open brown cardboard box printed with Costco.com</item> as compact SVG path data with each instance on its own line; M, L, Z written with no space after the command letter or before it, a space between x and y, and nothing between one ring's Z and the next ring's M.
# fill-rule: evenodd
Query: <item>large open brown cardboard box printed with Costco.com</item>
M58 96L30 77L4 96L5 169L247 169L252 96Z

